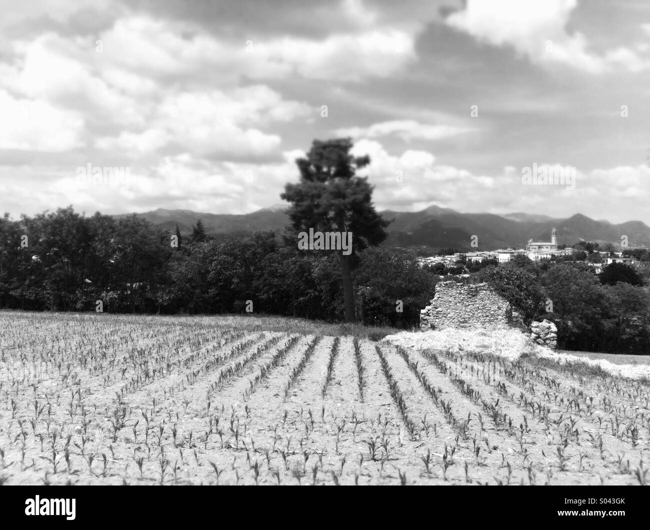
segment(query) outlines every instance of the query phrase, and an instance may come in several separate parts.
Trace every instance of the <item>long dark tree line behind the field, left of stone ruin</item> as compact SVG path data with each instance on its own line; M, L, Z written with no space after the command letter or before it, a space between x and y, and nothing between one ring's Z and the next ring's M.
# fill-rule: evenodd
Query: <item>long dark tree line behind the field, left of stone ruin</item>
M417 326L434 275L411 254L371 247L354 260L357 318ZM214 239L198 222L180 237L72 207L0 219L1 308L94 311L101 300L108 312L239 313L251 300L254 313L341 321L343 298L338 256L298 250L289 232Z

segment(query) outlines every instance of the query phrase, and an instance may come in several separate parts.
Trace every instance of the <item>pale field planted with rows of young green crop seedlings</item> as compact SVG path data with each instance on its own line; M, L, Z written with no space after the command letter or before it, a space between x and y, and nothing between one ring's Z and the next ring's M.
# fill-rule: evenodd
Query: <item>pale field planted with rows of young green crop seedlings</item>
M0 312L0 481L650 479L646 380L503 356L485 337L420 348L272 327Z

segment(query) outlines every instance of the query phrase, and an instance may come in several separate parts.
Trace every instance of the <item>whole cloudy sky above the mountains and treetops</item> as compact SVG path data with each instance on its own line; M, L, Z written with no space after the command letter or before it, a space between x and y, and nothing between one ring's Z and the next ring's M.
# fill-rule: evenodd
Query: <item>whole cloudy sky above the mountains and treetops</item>
M314 139L349 136L378 210L650 224L646 0L0 12L0 213L14 219L69 204L250 213L282 203Z

